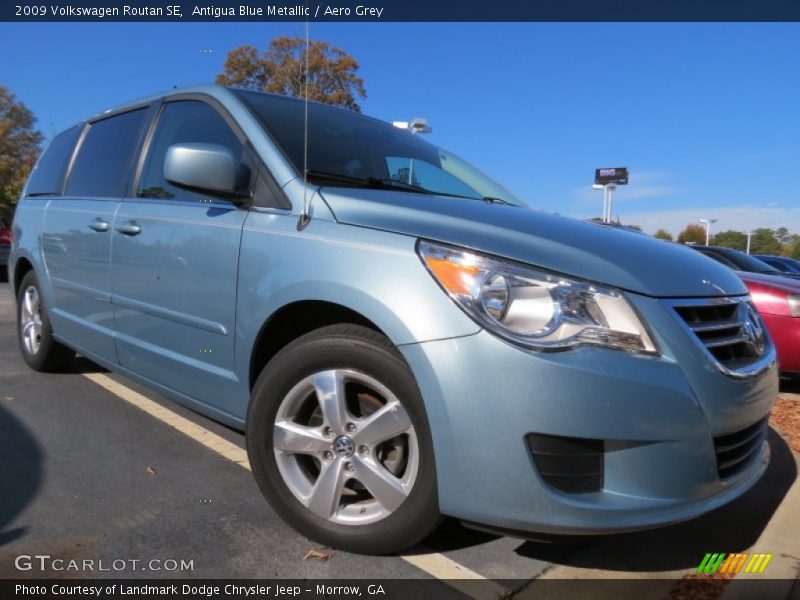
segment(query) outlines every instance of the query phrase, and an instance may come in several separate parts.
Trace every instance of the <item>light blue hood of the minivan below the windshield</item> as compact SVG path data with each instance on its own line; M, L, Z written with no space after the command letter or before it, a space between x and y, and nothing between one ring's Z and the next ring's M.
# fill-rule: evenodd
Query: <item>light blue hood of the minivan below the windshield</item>
M324 187L336 220L464 246L656 297L746 294L733 271L640 233L502 204Z

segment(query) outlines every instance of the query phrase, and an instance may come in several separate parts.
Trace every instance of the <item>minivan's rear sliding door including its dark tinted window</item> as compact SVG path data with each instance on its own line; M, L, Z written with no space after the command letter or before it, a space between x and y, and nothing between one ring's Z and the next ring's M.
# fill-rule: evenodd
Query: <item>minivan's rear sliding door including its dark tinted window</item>
M138 108L86 126L66 192L50 201L44 218L42 248L53 290L53 330L81 353L110 361L116 361L111 226L146 115L146 107Z

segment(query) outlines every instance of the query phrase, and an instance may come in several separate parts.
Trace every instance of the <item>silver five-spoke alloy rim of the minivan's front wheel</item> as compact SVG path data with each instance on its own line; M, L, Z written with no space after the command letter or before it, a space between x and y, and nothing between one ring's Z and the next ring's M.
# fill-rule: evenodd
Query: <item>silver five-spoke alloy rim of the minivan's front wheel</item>
M273 429L278 469L312 513L363 525L397 510L414 486L419 446L397 397L364 373L306 377L281 402Z

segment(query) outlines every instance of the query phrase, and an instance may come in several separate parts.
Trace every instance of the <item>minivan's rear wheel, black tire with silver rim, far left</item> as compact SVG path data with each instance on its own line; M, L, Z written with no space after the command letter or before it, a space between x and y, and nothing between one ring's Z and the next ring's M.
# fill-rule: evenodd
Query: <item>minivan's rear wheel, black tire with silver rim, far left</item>
M62 371L75 358L73 350L53 337L39 279L33 271L28 271L19 286L17 338L22 358L34 371Z

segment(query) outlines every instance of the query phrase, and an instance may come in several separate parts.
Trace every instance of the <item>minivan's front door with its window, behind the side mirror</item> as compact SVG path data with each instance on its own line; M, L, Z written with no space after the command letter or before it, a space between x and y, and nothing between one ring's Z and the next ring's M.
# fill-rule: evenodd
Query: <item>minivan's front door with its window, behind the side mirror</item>
M238 382L236 282L247 210L229 197L166 181L164 159L173 144L220 144L247 177L250 155L230 118L201 99L165 102L148 137L134 194L120 206L112 232L120 364L225 409Z

